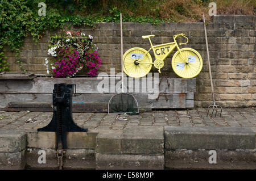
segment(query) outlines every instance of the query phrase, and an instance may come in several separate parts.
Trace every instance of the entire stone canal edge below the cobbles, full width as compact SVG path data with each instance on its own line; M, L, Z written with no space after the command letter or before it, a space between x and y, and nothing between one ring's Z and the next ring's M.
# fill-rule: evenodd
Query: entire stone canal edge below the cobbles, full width
M256 169L255 134L252 128L150 126L70 132L64 169ZM46 163L38 162L40 150ZM58 169L56 133L1 131L0 169Z

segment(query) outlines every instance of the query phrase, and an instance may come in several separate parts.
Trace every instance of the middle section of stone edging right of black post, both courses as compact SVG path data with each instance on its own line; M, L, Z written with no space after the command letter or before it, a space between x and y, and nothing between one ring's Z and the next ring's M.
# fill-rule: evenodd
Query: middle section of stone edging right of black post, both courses
M96 137L96 169L164 169L163 127L127 127Z

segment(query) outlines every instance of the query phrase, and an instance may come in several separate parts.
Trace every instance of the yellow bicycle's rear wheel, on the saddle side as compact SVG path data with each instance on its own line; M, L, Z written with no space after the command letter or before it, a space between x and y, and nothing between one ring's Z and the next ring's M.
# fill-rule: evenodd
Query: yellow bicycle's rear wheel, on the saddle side
M129 77L144 77L150 72L151 67L152 58L143 48L131 48L123 54L123 71Z

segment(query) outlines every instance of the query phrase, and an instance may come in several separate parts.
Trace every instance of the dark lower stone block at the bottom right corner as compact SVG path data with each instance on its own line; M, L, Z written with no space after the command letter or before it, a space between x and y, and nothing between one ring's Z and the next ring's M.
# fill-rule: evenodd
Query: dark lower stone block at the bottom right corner
M166 150L166 169L256 169L254 150L216 150L216 163L209 163L209 150Z

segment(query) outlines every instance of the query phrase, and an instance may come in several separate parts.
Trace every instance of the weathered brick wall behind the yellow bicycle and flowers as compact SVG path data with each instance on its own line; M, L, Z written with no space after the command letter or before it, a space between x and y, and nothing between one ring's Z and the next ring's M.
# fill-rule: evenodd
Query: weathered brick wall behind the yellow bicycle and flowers
M212 23L207 24L215 97L217 104L221 106L247 107L256 104L255 17L217 15L213 17ZM116 72L121 71L119 28L119 23L100 23L94 30L85 26L72 26L70 30L81 30L87 35L93 35L102 59L99 71L109 73L110 68L115 68ZM204 63L203 70L196 77L195 106L205 107L212 104L203 23L163 23L158 27L150 23L123 23L123 29L124 52L132 47L149 49L150 44L147 39L142 39L142 35L154 34L151 41L155 45L171 42L173 35L185 33L189 42L180 47L196 49ZM37 45L32 42L31 37L24 40L21 53L23 68L36 74L46 73L43 61L47 57L47 41L54 33L46 32L46 36ZM166 66L162 71L165 75L177 77L171 68L172 54L164 61ZM14 53L7 52L6 56L10 70L19 71ZM154 60L154 56L152 58ZM152 72L156 71L152 68Z

